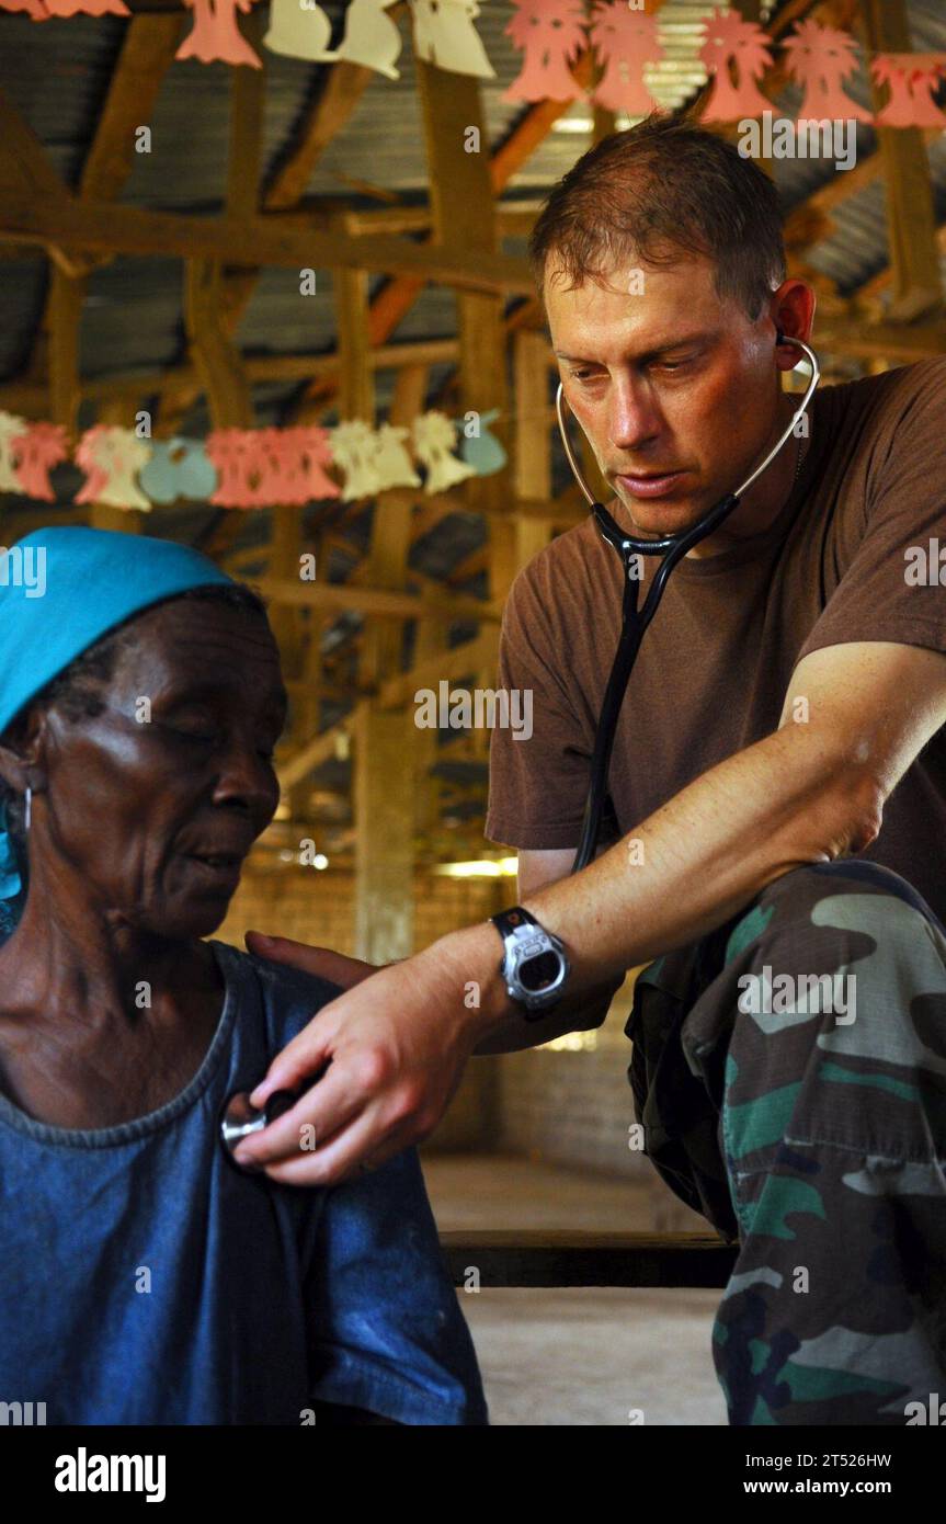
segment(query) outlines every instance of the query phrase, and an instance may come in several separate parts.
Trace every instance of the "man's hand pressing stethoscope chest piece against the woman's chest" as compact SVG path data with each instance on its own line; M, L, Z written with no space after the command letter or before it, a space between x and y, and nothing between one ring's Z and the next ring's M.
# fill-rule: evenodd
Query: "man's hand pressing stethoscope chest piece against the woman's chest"
M259 942L251 949L273 956ZM350 988L276 1055L251 1103L262 1106L274 1090L299 1090L329 1067L291 1111L245 1138L236 1158L283 1184L335 1186L360 1164L382 1164L433 1132L469 1055L507 1013L509 1001L491 977L498 960L489 924L449 933L375 972L324 948L311 949L312 962L303 962L305 951L292 951L286 962L335 977L326 959L338 959L350 965Z

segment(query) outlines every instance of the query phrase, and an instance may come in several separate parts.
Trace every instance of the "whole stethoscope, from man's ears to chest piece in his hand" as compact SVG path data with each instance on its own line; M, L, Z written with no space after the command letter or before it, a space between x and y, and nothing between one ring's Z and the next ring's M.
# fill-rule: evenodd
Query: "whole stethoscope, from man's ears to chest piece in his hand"
M582 472L579 471L577 460L574 459L574 453L568 440L568 430L565 427L565 415L562 410L565 396L562 386L559 383L559 389L554 398L554 405L559 419L562 443L565 445L565 456L568 457L568 465L571 466L574 480L577 482L579 488L582 489L583 495L591 504L591 512L594 514L594 518L597 521L597 526L603 538L608 541L608 544L614 546L625 567L622 632L617 643L617 651L614 654L614 664L611 668L608 686L605 689L602 712L599 715L597 732L594 738L594 751L591 756L591 783L588 788L588 799L585 802L582 838L579 843L579 849L574 855L574 863L571 864L573 873L579 873L583 867L586 867L597 849L597 838L600 834L600 823L602 823L602 809L605 803L605 788L608 782L608 768L611 764L611 751L614 747L614 735L617 730L620 707L625 700L628 681L631 678L631 671L634 668L634 661L637 658L637 652L640 649L644 629L647 628L647 625L654 619L654 614L657 613L657 605L663 597L663 591L664 587L667 585L667 578L670 576L670 572L673 570L676 562L686 556L687 550L699 544L699 541L705 535L711 533L714 529L719 527L719 524L724 523L725 518L730 517L733 509L739 506L742 497L748 492L753 483L757 482L762 472L771 466L772 460L775 460L775 457L781 453L785 445L795 433L798 421L807 411L809 402L815 395L818 381L821 379L821 367L818 364L818 357L815 355L813 349L810 349L801 338L786 338L781 334L781 331L778 331L777 343L797 344L798 349L804 351L807 361L812 367L810 381L806 387L804 396L798 408L792 415L792 421L788 424L781 437L772 445L765 460L762 460L760 465L756 466L753 474L745 479L745 482L742 483L742 486L736 489L736 492L730 492L728 497L721 498L721 501L716 503L713 507L710 507L704 514L704 517L690 529L686 529L679 535L667 535L664 539L635 539L632 535L628 535L620 527L620 524L611 517L603 503L596 501L594 494L590 491L582 477ZM632 558L660 556L660 555L663 555L664 559L654 576L654 582L650 584L650 591L644 599L644 607L638 613L637 578L634 576L635 567L632 564ZM312 1081L312 1084L321 1079L321 1074L324 1073L326 1068L328 1065L323 1067L321 1073L315 1076L315 1081ZM270 1122L274 1122L276 1117L280 1117L285 1111L289 1111L299 1100L299 1094L300 1093L292 1093L288 1090L277 1090L274 1091L274 1094L270 1096L267 1105L260 1111L256 1111L250 1105L250 1097L245 1091L236 1091L229 1097L229 1100L224 1103L219 1119L219 1137L224 1154L232 1161L235 1169L241 1169L241 1166L233 1158L233 1149L238 1146L238 1143L241 1143L242 1138L245 1137L251 1137L254 1132L262 1132L262 1129L267 1128ZM245 1170L241 1170L241 1173L245 1173ZM265 1177L262 1175L259 1178L260 1181L265 1180Z

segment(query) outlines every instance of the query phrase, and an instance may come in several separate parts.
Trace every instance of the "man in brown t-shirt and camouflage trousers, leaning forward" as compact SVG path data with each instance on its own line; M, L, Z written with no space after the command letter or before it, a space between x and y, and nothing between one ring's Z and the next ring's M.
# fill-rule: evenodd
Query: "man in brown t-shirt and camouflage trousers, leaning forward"
M786 279L774 187L647 120L571 169L532 255L611 512L679 533L792 415L781 335L809 338L815 300ZM944 402L940 360L823 389L807 437L678 565L622 710L617 840L574 876L623 572L590 521L535 556L500 652L533 735L494 733L487 837L565 943L564 998L527 1020L486 922L349 989L254 1093L332 1059L247 1146L274 1180L331 1183L425 1137L468 1055L600 1024L650 963L637 1114L664 1178L739 1237L713 1330L733 1423L903 1423L946 1381ZM328 1141L300 1157L305 1122Z

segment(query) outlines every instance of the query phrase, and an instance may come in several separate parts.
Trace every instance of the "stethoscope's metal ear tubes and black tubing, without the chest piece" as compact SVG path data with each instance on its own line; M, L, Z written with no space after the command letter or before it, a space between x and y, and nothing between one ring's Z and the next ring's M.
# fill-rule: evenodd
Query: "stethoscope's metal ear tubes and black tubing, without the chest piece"
M736 492L730 492L728 497L724 497L717 503L714 503L713 507L708 509L696 524L692 524L679 535L666 535L663 539L638 539L634 535L629 535L612 518L612 515L608 512L603 503L599 503L596 500L594 494L588 488L579 469L574 451L571 448L571 442L568 439L568 428L565 424L565 413L564 413L565 393L562 384L559 383L554 398L554 405L556 405L562 443L565 447L565 456L568 459L568 465L571 466L571 474L574 475L574 480L577 482L582 494L591 504L591 512L594 515L594 520L599 526L602 536L608 541L608 544L614 546L625 567L625 585L622 597L622 631L617 642L617 649L614 652L614 661L611 666L611 674L608 677L608 684L605 687L605 696L602 700L602 710L599 715L597 730L594 736L594 750L591 754L591 780L588 786L588 797L585 800L582 834L577 852L574 855L574 863L571 864L571 873L580 873L580 870L591 863L594 852L597 849L602 812L605 805L608 770L611 765L611 753L614 750L614 736L617 733L620 709L625 701L625 693L628 690L628 683L631 680L634 661L637 660L637 652L640 651L641 639L644 636L647 625L654 619L654 614L657 613L657 607L663 597L670 572L693 549L693 546L699 544L701 539L713 533L713 530L717 529L719 524L722 524L724 520L730 517L733 509L739 506L743 495L759 480L763 471L768 471L768 468L772 465L772 462L777 459L777 456L781 453L785 445L795 433L798 421L807 411L809 404L818 387L818 381L821 379L821 366L818 364L818 357L815 355L813 349L810 349L809 344L804 343L804 340L785 338L781 341L786 344L797 344L798 349L803 349L812 367L809 383L804 389L804 396L798 404L798 407L795 408L795 411L792 413L791 422L786 425L781 436L768 451L765 459L759 462L759 465L745 479L745 482L742 482L742 485L736 489ZM650 582L647 597L644 599L644 607L638 611L637 607L638 579L634 575L637 572L634 561L637 556L657 556L657 555L663 556L663 561L657 568L657 572L654 573L654 581Z

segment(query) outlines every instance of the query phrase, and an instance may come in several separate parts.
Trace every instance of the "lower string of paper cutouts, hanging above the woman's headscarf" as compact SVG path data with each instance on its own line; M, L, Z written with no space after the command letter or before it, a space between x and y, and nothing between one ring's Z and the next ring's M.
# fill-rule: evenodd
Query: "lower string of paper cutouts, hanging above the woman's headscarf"
M251 509L352 501L396 486L445 492L506 465L506 450L489 430L498 416L491 408L455 422L430 408L411 425L372 428L363 419L344 419L334 428L216 428L206 439L149 439L134 428L94 424L72 453L85 477L75 501L149 512L155 503L181 498ZM56 501L49 472L69 457L64 425L0 411L0 492ZM423 479L416 463L425 468ZM341 483L326 466L341 471Z

